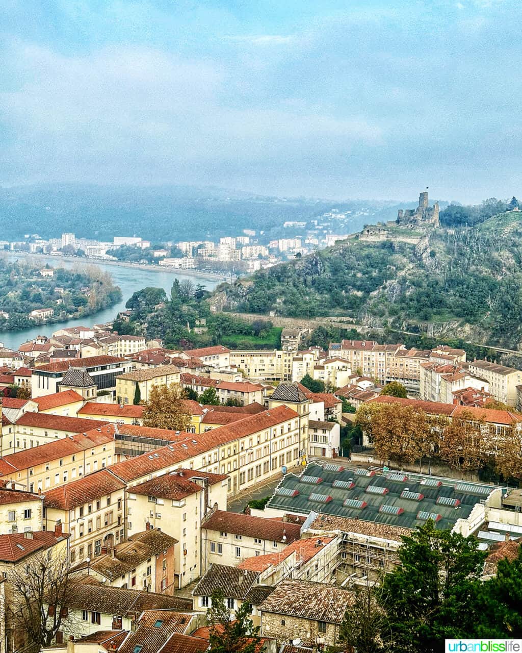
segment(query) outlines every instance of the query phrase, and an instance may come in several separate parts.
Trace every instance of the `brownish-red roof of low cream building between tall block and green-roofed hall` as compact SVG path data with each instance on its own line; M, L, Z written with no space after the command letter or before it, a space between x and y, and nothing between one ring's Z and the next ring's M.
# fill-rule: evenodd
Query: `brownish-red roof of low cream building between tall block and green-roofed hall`
M301 535L299 524L276 522L262 517L253 517L253 515L243 515L243 513L228 513L224 510L214 511L202 523L201 528L288 544L299 539Z

